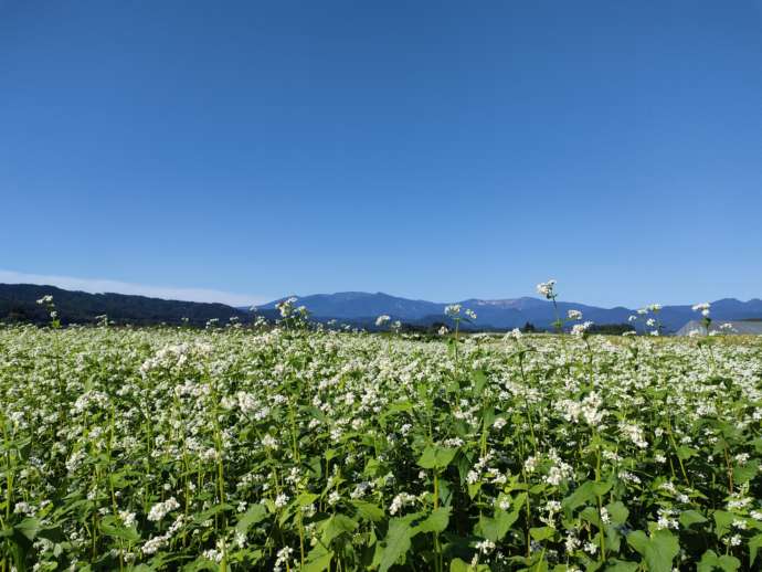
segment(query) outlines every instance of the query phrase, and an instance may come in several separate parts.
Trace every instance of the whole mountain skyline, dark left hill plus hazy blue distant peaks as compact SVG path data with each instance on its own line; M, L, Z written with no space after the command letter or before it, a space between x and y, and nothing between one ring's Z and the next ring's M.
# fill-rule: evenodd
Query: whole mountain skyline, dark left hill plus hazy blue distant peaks
M109 320L118 324L138 326L182 324L183 318L188 318L194 326L203 326L210 319L224 324L232 317L242 322L251 321L255 316L272 320L278 315L277 303L286 299L262 305L252 314L248 308L234 308L224 304L165 300L110 293L88 294L32 284L0 284L0 320L36 324L49 321L45 309L36 304L46 294L53 295L64 324L93 322L96 316L105 314ZM447 304L400 298L383 293L345 292L297 298L297 305L306 306L313 318L324 322L336 319L352 326L373 328L375 318L382 314L413 326L448 322L444 316ZM469 298L454 304L461 304L464 309L469 308L477 314L476 322L470 326L476 329L519 328L527 322L547 329L555 319L552 303L533 297L499 300ZM562 316L570 309L581 310L585 320L592 320L596 325L623 324L636 311L622 306L601 308L570 301L559 301L558 307ZM761 319L762 300L724 298L713 301L711 311L712 317L719 320ZM697 317L689 305L665 306L658 314L658 319L667 331L676 331Z

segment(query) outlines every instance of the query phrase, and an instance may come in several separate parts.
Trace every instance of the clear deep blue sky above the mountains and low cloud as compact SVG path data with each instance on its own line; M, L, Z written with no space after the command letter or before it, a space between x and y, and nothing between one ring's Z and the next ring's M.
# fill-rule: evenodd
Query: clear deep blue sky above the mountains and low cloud
M0 269L762 297L762 2L0 0Z

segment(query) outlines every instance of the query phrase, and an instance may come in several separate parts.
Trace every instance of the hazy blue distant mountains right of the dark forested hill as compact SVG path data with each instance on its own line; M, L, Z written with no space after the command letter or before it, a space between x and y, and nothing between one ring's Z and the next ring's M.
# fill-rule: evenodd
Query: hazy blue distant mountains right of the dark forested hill
M310 315L321 321L338 319L359 325L370 325L377 316L389 315L406 324L430 325L435 321L446 321L444 309L447 304L426 300L412 300L390 296L383 293L370 294L364 292L343 292L337 294L316 294L298 297L298 305L304 305ZM260 307L262 310L273 310L286 298L274 300ZM553 304L546 299L522 297L498 300L469 298L455 301L463 308L470 308L477 314L476 328L507 329L518 328L527 322L538 328L550 328L555 320ZM617 306L601 308L571 301L559 301L559 311L565 316L568 310L581 310L585 320L595 324L623 324L636 313L635 309ZM741 301L724 298L712 303L712 317L723 320L762 318L762 300L751 299ZM665 306L658 313L658 319L668 331L675 331L687 321L695 319L697 313L691 306Z

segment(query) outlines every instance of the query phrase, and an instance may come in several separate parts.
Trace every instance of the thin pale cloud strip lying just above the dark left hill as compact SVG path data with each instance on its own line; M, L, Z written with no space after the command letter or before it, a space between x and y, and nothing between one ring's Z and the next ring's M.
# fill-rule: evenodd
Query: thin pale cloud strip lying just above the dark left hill
M230 306L248 306L252 304L262 304L267 301L262 296L252 296L207 288L155 286L100 278L76 278L73 276L27 274L3 269L0 269L0 283L50 285L67 290L83 290L92 294L113 292L118 294L136 294L139 296L150 296L152 298L165 298L171 300L219 301Z

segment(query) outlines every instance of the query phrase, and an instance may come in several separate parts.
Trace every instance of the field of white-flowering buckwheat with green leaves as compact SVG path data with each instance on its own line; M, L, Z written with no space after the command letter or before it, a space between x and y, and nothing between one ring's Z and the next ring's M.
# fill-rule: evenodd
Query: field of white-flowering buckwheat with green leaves
M759 338L290 316L0 328L0 570L759 568Z

